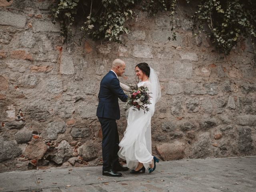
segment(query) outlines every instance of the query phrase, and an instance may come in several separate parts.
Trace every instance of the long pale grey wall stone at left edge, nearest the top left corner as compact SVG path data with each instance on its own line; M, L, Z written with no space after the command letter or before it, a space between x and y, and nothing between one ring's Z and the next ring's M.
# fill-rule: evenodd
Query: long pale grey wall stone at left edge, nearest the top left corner
M0 11L0 18L0 25L24 27L26 24L25 16L12 12Z

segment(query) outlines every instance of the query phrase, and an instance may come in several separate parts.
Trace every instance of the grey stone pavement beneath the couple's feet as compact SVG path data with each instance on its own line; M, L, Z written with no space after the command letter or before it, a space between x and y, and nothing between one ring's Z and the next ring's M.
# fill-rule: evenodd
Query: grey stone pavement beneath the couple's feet
M102 167L0 173L0 192L256 192L256 156L159 162L151 174L102 176Z

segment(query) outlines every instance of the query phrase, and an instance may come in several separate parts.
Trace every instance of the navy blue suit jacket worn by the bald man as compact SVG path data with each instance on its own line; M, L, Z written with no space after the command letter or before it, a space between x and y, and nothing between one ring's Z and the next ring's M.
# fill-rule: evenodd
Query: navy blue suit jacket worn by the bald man
M126 102L128 96L120 87L120 82L114 72L109 71L100 82L100 92L98 95L99 104L97 117L120 119L120 108L118 98Z

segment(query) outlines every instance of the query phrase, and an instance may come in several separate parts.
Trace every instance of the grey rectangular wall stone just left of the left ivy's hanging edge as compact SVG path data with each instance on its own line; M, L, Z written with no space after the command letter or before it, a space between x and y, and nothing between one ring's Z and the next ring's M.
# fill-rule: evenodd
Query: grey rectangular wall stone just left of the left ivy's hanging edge
M51 21L35 21L33 24L34 32L57 32L60 33L60 25L53 24Z

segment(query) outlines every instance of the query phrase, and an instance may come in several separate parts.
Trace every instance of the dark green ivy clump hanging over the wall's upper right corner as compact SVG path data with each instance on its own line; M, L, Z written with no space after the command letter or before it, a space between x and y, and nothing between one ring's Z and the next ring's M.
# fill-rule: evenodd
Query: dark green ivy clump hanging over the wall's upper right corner
M204 28L205 23L208 29ZM194 15L194 29L196 27L199 29L198 32L206 32L220 50L229 54L240 40L256 37L255 1L201 1Z

